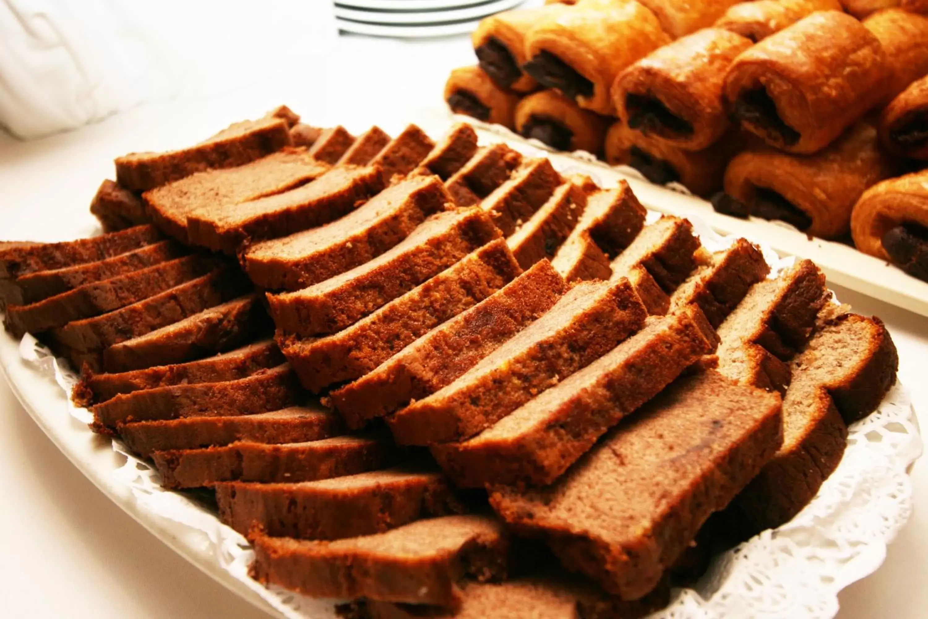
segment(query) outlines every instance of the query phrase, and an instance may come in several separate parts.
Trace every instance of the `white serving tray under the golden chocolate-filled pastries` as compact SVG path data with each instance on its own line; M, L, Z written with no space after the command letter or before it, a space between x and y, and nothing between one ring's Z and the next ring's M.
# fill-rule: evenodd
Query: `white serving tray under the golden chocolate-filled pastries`
M739 219L717 213L708 201L683 191L654 185L634 168L610 166L587 152L552 150L537 140L526 140L505 127L475 122L470 117L460 116L458 120L476 127L482 143L506 142L523 154L537 155L543 152L559 168L581 165L585 172L595 174L601 185L614 186L620 179L625 179L638 200L653 211L681 217L696 216L721 235L737 235L752 242L762 241L780 256L808 258L818 264L834 284L928 316L928 282L911 277L896 266L853 247L808 237L793 226L781 222L758 217Z

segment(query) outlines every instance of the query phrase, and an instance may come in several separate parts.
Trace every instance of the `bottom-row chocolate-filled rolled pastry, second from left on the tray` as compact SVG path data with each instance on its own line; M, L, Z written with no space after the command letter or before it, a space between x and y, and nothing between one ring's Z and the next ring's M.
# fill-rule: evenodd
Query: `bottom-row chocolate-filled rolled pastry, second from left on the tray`
M554 90L542 90L519 102L516 132L541 140L558 150L586 150L599 156L606 134L606 120L582 110L573 99Z

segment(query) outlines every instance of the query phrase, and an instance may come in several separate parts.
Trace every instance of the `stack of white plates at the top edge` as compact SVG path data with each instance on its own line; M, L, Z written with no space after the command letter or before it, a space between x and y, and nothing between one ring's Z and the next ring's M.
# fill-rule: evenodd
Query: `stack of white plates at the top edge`
M481 19L523 1L335 0L335 19L342 32L401 38L447 36L473 32Z

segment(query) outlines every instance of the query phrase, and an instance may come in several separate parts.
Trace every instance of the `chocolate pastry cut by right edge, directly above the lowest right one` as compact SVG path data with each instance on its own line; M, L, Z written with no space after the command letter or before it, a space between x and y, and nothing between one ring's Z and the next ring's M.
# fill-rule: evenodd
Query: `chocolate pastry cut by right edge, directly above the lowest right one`
M928 160L928 76L886 106L880 116L880 138L896 155Z

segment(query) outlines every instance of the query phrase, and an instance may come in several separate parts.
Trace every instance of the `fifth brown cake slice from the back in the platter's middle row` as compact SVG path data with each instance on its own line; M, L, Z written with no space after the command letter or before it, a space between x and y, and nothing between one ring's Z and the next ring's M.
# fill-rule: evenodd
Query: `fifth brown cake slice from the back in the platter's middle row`
M365 264L304 290L268 294L271 316L284 332L335 333L497 238L499 230L479 209L434 214Z

